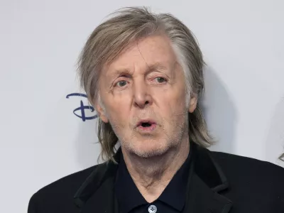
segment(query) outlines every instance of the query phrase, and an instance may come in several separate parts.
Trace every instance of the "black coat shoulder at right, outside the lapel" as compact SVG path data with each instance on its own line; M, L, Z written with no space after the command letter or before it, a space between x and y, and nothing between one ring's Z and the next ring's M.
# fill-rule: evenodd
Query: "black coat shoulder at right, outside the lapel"
M263 208L260 212L284 211L284 168L228 153L211 152L211 155L229 184L224 194L237 206Z

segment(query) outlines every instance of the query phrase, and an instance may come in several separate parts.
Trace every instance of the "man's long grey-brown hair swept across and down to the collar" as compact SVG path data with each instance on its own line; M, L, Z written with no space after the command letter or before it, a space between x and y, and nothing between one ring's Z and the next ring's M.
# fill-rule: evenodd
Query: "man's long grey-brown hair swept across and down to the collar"
M169 13L151 13L145 7L127 7L114 13L94 29L84 45L79 58L80 84L86 91L89 102L100 103L98 81L102 67L109 65L127 45L154 33L163 33L170 38L173 50L185 75L187 103L190 97L200 99L204 90L204 60L193 33L178 18ZM204 121L200 103L188 114L190 141L200 146L214 143ZM114 160L118 141L111 124L99 119L99 143L103 160Z

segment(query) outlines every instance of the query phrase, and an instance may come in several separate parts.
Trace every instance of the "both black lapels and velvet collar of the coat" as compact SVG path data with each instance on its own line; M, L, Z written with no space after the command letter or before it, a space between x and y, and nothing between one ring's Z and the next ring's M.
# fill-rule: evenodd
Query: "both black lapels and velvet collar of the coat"
M191 146L192 166L187 185L185 212L226 213L232 202L220 195L229 184L222 169L210 155L210 151L195 143ZM121 149L114 159L119 163ZM117 200L114 197L114 180L118 165L111 161L95 166L93 172L83 182L74 196L74 202L82 213L117 213Z

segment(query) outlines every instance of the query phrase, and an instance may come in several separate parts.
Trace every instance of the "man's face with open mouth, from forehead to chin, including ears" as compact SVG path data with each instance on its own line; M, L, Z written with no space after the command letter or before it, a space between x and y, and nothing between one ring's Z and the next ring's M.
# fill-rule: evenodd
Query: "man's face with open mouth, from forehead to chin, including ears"
M187 112L195 106L186 106L182 67L165 35L131 43L105 67L99 90L104 109L97 111L123 151L148 158L187 139Z

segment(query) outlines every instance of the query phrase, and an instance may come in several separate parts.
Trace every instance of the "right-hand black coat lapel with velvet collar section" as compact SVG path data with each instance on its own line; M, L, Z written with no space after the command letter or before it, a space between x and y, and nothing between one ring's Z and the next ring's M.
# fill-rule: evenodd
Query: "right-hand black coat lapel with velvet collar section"
M229 186L219 165L214 162L207 149L195 144L192 144L192 158L184 212L229 212L231 200L219 194Z

